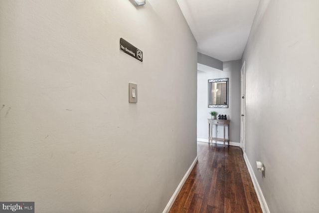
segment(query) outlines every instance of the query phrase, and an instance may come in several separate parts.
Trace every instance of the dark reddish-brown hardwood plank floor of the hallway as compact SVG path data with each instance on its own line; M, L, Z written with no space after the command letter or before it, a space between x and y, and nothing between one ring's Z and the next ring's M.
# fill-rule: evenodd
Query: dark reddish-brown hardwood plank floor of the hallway
M239 147L198 142L197 156L170 213L262 213Z

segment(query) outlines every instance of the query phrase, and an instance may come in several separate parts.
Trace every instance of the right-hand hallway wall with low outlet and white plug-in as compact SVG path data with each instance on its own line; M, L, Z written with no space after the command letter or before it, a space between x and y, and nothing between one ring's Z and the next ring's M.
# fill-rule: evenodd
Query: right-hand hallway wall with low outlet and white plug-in
M267 3L242 58L246 153L270 212L318 213L319 1Z

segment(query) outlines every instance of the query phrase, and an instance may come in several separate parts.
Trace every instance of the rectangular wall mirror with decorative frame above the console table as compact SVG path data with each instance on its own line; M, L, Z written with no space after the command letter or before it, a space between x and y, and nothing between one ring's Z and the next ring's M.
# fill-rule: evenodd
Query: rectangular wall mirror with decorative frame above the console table
M208 80L208 108L228 108L228 78Z

